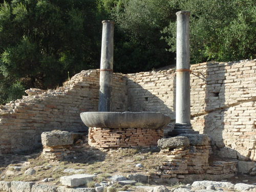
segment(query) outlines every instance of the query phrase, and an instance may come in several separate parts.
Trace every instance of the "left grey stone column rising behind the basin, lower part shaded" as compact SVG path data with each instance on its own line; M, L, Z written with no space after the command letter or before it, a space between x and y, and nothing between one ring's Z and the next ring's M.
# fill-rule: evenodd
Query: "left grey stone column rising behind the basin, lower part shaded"
M99 112L111 111L113 76L114 25L113 20L102 21L102 42L99 79Z

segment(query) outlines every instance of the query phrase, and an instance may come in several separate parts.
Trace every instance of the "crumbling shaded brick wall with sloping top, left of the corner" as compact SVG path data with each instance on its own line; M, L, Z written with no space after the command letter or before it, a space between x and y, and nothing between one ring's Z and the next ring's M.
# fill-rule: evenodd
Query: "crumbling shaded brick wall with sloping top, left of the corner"
M113 111L125 108L126 79L113 75ZM0 111L0 155L33 150L41 133L86 131L81 112L98 111L99 70L82 71L56 90L26 91L28 96L7 103Z

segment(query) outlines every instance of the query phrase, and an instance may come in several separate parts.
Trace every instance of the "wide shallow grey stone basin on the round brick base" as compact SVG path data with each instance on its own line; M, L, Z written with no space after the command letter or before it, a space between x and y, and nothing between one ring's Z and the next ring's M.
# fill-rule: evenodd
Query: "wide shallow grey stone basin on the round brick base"
M155 112L83 112L83 123L88 127L159 129L170 122L170 117Z

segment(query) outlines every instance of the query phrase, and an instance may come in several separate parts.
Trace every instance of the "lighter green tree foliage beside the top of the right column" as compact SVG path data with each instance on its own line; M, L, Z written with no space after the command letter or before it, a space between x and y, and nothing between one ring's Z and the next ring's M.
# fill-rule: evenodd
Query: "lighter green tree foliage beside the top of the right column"
M175 4L190 11L192 63L255 58L256 3L252 0L181 0ZM175 22L163 31L176 33ZM175 51L176 35L166 38Z

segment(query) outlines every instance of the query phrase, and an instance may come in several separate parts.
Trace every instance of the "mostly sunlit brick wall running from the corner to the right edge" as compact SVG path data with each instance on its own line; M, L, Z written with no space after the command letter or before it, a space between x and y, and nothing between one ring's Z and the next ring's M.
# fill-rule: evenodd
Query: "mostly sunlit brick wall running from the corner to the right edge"
M256 160L256 59L191 65L191 123L224 158ZM175 123L173 70L128 74L130 111L170 115Z

